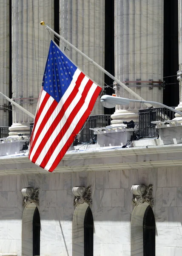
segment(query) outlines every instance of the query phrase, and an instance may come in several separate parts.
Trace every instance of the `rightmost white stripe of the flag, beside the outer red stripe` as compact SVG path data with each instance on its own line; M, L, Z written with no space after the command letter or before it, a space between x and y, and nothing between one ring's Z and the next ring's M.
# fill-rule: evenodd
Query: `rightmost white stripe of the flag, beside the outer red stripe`
M54 163L57 155L60 153L61 149L63 148L63 146L65 145L65 143L67 142L68 138L70 137L70 135L72 134L72 132L74 131L75 126L77 125L77 123L80 121L82 115L85 113L85 111L88 108L88 105L91 101L91 98L95 92L97 88L96 84L92 84L84 104L82 105L82 108L80 108L80 111L77 113L77 115L75 116L75 118L73 119L73 121L71 122L70 127L68 128L68 130L66 131L65 135L63 136L62 140L60 141L60 143L57 145L57 147L55 148L53 154L51 155L47 165L45 166L44 169L46 169L47 171L51 168L52 164Z

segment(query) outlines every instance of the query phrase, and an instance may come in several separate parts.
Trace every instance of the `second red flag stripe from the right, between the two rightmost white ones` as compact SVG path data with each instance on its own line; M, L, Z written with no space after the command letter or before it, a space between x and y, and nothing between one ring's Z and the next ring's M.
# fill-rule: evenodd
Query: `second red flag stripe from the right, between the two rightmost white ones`
M75 116L77 115L77 113L80 111L80 108L82 107L82 105L85 103L85 98L88 95L89 89L91 88L91 85L93 84L93 81L88 80L87 84L85 85L85 88L82 92L82 97L79 100L79 102L77 103L77 105L74 107L74 109L71 111L68 119L65 122L65 125L63 127L60 127L60 132L59 134L57 134L57 137L55 138L54 142L52 143L51 147L48 149L42 163L40 164L41 167L45 168L46 164L48 163L48 160L50 158L50 156L52 154L54 154L54 150L57 147L57 145L60 143L60 140L62 140L64 134L66 133L66 131L68 130L68 128L71 125L71 122L73 121L73 119L75 118ZM77 125L77 124L75 124ZM76 135L76 134L75 134Z

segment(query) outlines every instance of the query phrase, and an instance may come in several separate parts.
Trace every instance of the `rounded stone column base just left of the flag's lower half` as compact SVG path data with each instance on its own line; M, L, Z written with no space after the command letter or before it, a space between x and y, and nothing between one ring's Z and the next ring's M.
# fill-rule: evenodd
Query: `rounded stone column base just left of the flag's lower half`
M18 134L23 134L23 138L28 138L30 135L30 127L27 125L22 125L18 123L13 123L11 127L9 127L9 136L8 138L20 138Z

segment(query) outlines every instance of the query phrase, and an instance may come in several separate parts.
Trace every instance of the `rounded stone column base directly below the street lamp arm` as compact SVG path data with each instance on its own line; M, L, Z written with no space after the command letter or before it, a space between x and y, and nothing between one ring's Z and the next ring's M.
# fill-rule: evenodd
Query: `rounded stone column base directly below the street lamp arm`
M123 124L123 121L130 122L131 120L133 120L135 123L139 122L138 110L134 110L133 112L127 110L117 110L114 112L113 115L111 115L111 118L112 125L119 125L122 127L126 127L126 125Z

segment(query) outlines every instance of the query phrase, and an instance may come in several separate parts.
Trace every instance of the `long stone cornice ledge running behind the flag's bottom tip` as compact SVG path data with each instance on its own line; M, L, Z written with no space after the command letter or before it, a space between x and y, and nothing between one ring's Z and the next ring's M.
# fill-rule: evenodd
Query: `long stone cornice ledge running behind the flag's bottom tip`
M68 152L54 173L182 166L181 152L182 144ZM27 156L0 157L0 176L39 173L48 172Z

